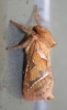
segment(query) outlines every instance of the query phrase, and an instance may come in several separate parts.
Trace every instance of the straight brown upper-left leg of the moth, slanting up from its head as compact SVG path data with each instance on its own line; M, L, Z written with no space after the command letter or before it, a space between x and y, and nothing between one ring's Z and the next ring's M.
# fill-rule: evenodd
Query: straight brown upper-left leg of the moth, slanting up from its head
M14 24L18 29L20 29L21 31L23 31L23 32L25 32L25 33L35 34L34 31L32 31L32 30L30 30L30 29L27 29L27 28L25 28L25 26L23 26L23 25L16 23L16 22L14 22L13 20L10 20L10 22L11 22L12 24Z

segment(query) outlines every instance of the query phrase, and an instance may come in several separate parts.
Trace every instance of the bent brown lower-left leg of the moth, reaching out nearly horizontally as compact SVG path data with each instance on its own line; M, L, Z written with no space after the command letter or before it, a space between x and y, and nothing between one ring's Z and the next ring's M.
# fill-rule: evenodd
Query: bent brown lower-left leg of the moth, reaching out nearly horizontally
M32 41L32 37L27 38L23 44L7 47L5 50L12 51L12 50L16 50L16 48L24 48L31 43L31 41Z

